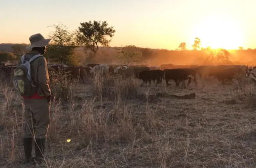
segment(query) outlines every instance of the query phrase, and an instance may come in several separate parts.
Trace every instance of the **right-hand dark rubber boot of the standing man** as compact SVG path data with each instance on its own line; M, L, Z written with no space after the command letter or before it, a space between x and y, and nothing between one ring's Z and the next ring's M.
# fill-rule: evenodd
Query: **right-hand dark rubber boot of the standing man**
M46 138L35 139L35 162L41 163L44 159Z

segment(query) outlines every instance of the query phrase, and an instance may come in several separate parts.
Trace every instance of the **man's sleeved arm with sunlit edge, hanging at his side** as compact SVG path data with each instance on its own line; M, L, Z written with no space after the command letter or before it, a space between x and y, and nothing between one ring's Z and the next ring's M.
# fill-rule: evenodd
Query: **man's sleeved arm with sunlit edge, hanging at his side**
M47 62L44 57L38 58L38 72L37 72L37 79L38 79L38 87L40 91L44 94L45 97L51 96L51 89L49 83L49 74L47 68Z

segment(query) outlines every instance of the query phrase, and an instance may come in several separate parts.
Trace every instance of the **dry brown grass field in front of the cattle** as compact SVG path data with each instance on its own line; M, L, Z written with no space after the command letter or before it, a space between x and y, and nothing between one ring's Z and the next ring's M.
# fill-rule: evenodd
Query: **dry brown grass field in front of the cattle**
M60 82L61 81L61 82ZM134 78L53 81L55 99L38 167L256 167L256 89L247 79L187 89ZM24 104L1 83L0 167L23 165ZM195 93L194 99L173 95ZM71 142L67 142L71 139Z

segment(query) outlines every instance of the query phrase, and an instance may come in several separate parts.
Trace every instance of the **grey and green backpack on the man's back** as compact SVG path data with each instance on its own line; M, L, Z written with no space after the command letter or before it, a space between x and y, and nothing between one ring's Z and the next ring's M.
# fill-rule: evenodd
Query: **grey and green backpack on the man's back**
M13 84L15 89L22 96L31 97L37 91L37 87L31 77L30 64L39 57L42 57L42 55L36 54L27 61L25 60L25 55L23 55L20 64L14 70Z

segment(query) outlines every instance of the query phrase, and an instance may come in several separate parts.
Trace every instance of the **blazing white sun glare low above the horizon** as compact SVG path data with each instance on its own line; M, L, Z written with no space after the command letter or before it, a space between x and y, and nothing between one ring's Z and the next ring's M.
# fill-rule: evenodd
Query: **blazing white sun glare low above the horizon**
M227 18L206 18L196 25L193 36L201 39L202 47L236 49L243 45L240 25Z

